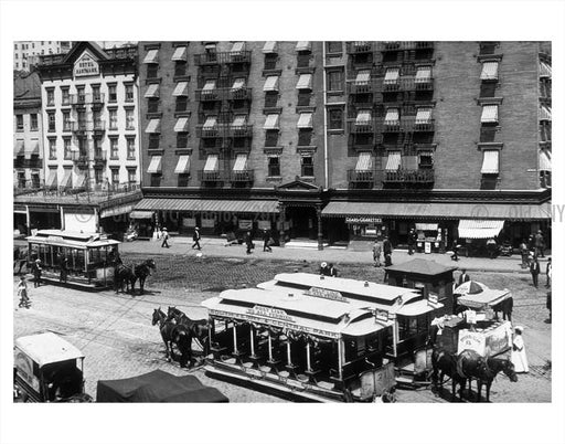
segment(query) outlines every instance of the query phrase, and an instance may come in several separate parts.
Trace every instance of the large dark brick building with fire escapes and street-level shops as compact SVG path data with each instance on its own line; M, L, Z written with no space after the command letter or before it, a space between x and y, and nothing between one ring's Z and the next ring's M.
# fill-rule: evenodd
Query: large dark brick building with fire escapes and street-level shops
M431 250L547 231L540 42L141 42L141 216ZM547 236L548 237L548 236Z

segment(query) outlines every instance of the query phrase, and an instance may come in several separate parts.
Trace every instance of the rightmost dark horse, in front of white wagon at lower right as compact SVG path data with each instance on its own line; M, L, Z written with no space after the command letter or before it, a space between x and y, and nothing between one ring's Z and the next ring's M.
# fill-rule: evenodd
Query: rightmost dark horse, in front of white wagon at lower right
M502 371L512 382L518 381L514 364L510 359L483 358L473 350L463 350L457 357L457 369L458 373L469 379L469 390L471 380L477 379L477 402L481 401L483 384L487 389L487 402L490 401L490 387L499 372Z

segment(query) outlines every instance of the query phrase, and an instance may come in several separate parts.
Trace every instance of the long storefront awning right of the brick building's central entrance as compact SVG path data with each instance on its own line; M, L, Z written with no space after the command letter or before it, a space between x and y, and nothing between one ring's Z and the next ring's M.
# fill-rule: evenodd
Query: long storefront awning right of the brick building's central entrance
M375 216L407 220L461 220L478 215L477 203L446 202L330 202L322 210L324 218ZM546 203L487 203L480 205L483 220L543 221L552 218ZM425 221L424 221L425 222Z

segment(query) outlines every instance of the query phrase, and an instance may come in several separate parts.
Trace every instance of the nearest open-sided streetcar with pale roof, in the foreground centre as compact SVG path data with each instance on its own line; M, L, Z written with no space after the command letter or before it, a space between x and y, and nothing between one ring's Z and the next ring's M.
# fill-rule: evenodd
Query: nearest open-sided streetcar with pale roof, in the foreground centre
M372 401L394 384L394 323L338 294L231 289L209 309L209 374L306 401Z

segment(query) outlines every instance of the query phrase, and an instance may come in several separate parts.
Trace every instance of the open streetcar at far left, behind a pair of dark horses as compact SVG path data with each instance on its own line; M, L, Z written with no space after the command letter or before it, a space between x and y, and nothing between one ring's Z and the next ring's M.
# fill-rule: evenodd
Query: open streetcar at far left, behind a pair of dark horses
M99 233L40 230L26 237L28 267L41 261L42 279L60 281L62 260L66 257L66 282L89 288L113 286L118 241Z

